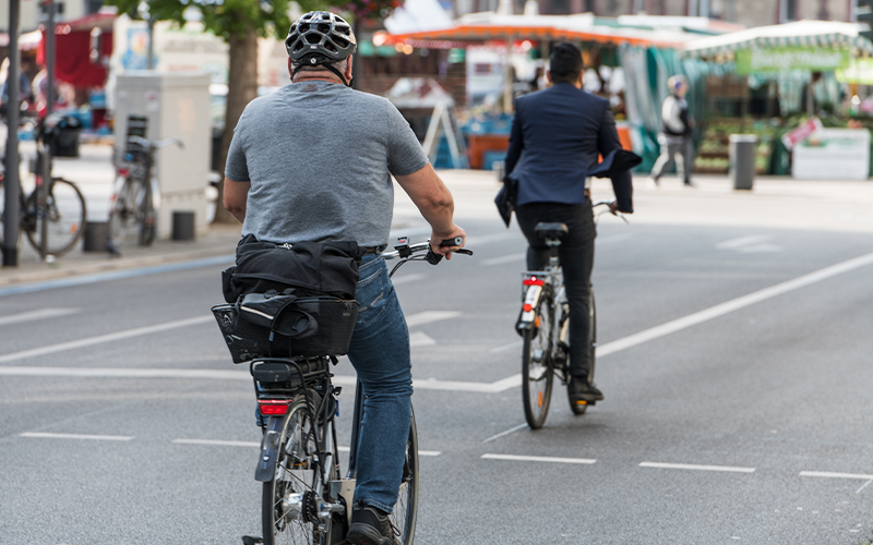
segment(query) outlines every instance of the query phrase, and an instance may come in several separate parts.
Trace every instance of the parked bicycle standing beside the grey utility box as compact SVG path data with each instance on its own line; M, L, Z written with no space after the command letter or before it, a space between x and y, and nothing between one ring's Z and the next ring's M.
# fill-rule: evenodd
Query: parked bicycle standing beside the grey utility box
M141 246L155 241L156 210L160 206L160 189L152 175L155 150L176 144L184 149L179 138L150 141L142 136L128 136L128 152L116 167L116 183L109 205L109 247L118 249L129 239Z

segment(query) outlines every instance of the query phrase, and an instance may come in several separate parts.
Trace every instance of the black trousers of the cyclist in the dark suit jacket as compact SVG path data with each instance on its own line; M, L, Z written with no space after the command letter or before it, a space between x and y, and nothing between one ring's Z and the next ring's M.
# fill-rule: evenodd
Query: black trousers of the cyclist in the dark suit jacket
M569 232L558 246L558 257L564 271L564 286L570 302L570 374L588 377L590 365L589 308L594 239L597 235L590 201L581 205L530 203L515 209L518 226L527 238L527 268L542 270L549 264L549 247L534 232L540 221L560 221Z

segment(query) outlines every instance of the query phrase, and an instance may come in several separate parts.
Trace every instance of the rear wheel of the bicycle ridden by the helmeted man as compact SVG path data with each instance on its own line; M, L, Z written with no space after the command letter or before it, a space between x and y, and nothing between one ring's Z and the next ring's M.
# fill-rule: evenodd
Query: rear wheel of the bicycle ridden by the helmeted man
M264 483L264 545L330 543L331 525L325 532L319 531L319 494L324 483L314 426L303 398L295 400L285 416L276 474ZM332 465L328 480L333 479L336 476Z

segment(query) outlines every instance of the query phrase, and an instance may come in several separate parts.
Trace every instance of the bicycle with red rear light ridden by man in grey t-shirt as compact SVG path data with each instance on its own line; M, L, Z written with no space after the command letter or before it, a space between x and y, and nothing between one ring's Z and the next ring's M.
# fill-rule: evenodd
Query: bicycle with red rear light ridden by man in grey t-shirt
M444 241L445 245L449 241ZM455 244L453 239L452 245ZM457 242L459 244L461 242ZM405 263L427 259L436 265L441 257L430 251L430 243L409 245L402 237L385 259L400 261L390 276ZM473 255L461 249L456 253ZM232 305L213 308L228 311ZM216 313L219 325L222 317ZM250 364L261 414L267 417L255 470L263 483L263 537L244 536L243 543L276 545L304 543L335 545L345 540L351 521L355 493L358 434L363 415L363 391L355 388L352 432L346 477L340 479L336 457L334 420L338 415L342 387L331 383L334 355L315 358L255 359ZM397 504L391 522L399 532L403 545L412 545L418 513L418 435L415 412L411 415L406 462Z

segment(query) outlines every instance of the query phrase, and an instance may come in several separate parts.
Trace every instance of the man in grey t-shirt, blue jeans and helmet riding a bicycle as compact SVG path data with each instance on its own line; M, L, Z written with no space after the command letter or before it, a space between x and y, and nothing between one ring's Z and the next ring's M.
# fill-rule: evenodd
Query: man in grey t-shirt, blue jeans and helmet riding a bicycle
M274 242L366 246L348 356L366 395L348 542L396 543L397 500L411 419L409 331L378 249L388 242L392 174L431 225L433 252L451 258L465 237L454 201L409 124L386 99L348 88L355 35L328 12L307 13L285 41L291 84L252 100L227 158L224 205L242 234Z

